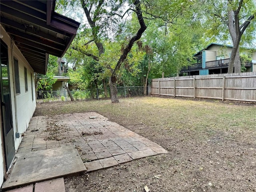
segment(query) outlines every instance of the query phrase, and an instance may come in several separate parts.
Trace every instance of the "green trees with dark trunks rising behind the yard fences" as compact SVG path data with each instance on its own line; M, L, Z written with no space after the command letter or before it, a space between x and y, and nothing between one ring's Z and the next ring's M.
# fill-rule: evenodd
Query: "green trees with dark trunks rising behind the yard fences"
M210 42L233 42L231 65L240 70L239 45L256 36L255 0L59 0L57 11L82 22L64 58L77 89L147 86L179 74ZM239 61L237 61L237 59ZM237 68L237 69L236 69ZM231 70L231 69L230 69Z

